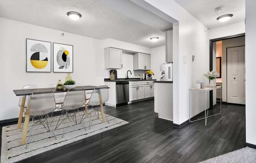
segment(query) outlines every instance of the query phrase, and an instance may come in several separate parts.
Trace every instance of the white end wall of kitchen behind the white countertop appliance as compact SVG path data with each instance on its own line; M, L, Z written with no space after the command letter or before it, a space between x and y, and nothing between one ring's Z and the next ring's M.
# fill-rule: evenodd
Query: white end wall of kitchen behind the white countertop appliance
M165 63L165 46L151 48L151 70L154 71L153 79L160 80L160 64Z

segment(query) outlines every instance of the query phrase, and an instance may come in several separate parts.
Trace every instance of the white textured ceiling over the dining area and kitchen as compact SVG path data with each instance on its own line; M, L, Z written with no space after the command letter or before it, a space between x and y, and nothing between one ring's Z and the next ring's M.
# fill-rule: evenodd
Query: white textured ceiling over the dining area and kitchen
M82 17L71 20L66 13ZM164 45L172 24L130 0L0 0L0 16L97 39L112 38L145 47ZM150 37L159 40L152 42Z

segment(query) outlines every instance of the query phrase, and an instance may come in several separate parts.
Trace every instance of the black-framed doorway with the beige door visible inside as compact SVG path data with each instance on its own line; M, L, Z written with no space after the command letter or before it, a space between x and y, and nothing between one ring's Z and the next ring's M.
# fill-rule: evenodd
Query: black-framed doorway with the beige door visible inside
M216 47L221 47L221 50ZM210 71L216 70L221 74L216 80L216 85L223 87L223 102L245 104L244 47L245 33L210 40L209 68ZM213 108L216 98L218 101L219 97L220 92L210 91L210 108Z

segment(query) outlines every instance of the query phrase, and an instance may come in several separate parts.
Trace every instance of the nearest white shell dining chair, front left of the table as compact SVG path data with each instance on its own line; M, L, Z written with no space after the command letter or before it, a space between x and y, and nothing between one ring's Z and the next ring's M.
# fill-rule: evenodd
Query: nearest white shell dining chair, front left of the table
M48 133L51 133L52 136L56 138L56 135L51 125L51 120L48 114L53 112L56 109L56 103L54 98L53 90L51 89L38 89L34 91L31 95L31 98L28 102L29 114L32 118L31 127L28 130L28 138L26 141L26 149L31 142L33 136L32 132L37 131L34 129L36 126L44 127ZM27 109L28 110L28 109ZM26 110L26 111L27 111ZM51 117L52 118L52 117Z

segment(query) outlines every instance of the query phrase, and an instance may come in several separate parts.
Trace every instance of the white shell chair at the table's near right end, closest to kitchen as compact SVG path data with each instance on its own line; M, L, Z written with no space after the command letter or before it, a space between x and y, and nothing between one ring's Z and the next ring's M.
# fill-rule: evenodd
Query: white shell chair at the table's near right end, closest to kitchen
M101 98L101 101L100 101L100 98ZM90 110L90 112L88 115L85 115L85 112L84 112L80 120L80 123L84 121L91 114L91 112L95 112L93 107L97 107L98 116L96 115L96 113L95 113L95 116L99 119L99 105L101 105L102 103L105 103L106 101L108 101L108 86L102 85L102 86L95 87L87 103L87 107L88 107L88 110ZM93 117L93 120L94 120L94 117ZM106 116L106 114L105 114L105 118L108 121L108 117ZM91 120L91 116L90 116L89 129L91 128L93 120Z

